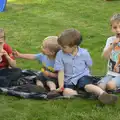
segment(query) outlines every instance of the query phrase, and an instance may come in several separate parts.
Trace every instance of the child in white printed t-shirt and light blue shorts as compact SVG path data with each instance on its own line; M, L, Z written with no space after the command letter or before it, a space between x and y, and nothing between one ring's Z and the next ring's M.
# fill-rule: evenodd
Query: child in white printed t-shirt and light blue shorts
M103 56L108 60L108 72L98 84L104 90L120 88L120 14L114 14L110 19L110 24L115 35L107 39L103 50Z

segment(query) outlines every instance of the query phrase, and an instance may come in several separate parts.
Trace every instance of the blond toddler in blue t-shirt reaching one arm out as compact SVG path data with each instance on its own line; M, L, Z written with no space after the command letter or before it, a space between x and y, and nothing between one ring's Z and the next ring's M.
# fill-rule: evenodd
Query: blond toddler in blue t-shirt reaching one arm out
M41 73L36 84L41 87L47 85L50 91L56 90L57 84L57 73L54 71L55 56L60 50L57 39L57 36L49 36L45 38L41 46L42 53L39 54L22 54L18 51L14 52L14 55L17 58L38 60L42 63Z

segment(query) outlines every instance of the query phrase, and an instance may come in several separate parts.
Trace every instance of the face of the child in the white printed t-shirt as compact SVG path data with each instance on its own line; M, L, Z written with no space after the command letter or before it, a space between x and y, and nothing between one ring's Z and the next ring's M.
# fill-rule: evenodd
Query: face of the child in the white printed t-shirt
M120 38L120 21L114 21L112 23L112 32L116 34L117 38Z

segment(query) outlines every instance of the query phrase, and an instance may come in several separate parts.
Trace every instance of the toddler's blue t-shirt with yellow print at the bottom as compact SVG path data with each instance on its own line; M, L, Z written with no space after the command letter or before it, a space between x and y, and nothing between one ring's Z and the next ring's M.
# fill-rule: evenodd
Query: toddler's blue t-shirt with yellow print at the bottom
M49 59L46 55L39 53L39 54L35 54L35 58L36 60L38 60L40 63L42 63L42 67L54 72L54 64L55 64L55 60L54 59Z

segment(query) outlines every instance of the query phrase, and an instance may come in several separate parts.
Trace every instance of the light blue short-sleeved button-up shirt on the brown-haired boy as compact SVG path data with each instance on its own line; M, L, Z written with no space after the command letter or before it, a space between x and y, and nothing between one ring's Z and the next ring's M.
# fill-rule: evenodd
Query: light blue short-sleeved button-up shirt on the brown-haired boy
M86 49L78 47L76 56L66 54L62 50L57 53L54 69L64 71L65 84L77 84L78 80L90 75L89 67L92 66L92 59Z

